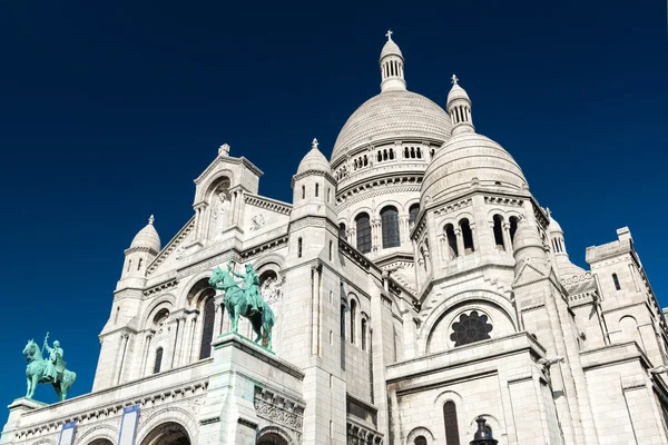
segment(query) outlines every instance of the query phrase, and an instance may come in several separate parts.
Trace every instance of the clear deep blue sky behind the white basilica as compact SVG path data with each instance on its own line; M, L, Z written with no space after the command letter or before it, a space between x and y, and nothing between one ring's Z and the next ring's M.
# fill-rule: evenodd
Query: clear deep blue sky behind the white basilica
M444 107L458 75L574 263L629 226L668 305L665 1L6 0L0 403L24 394L21 350L47 330L79 376L70 394L90 390L124 249L150 214L163 245L188 220L218 146L289 201L311 140L328 155L379 92L387 28L409 89Z

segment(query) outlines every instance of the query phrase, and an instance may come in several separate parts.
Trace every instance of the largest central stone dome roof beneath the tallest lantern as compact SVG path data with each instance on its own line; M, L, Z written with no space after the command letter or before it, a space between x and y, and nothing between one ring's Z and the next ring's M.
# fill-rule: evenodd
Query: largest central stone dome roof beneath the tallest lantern
M387 90L362 103L345 122L332 152L332 161L363 144L384 139L424 138L441 144L450 139L450 116L424 96Z

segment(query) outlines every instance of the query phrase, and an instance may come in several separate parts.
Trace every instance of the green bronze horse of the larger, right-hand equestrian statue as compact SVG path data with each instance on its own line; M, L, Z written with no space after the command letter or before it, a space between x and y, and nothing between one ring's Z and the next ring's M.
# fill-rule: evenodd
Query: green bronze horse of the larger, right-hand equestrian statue
M255 274L252 269L248 274ZM237 274L238 275L238 274ZM239 316L243 316L250 322L253 330L257 335L255 343L259 343L264 335L267 337L267 349L272 350L272 327L274 326L274 312L262 299L262 296L255 301L257 310L253 310L253 305L248 300L248 286L242 289L233 276L220 267L214 269L214 274L209 278L209 284L218 290L225 291L223 304L232 320L232 332L238 333ZM255 289L257 290L257 288Z

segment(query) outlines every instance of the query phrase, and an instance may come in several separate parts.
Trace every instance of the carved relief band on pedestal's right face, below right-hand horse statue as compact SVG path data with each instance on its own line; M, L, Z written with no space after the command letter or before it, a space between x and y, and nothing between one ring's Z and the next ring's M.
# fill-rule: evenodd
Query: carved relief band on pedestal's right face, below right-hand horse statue
M302 432L304 408L306 407L304 403L277 394L272 389L255 386L254 405L258 417L297 433Z

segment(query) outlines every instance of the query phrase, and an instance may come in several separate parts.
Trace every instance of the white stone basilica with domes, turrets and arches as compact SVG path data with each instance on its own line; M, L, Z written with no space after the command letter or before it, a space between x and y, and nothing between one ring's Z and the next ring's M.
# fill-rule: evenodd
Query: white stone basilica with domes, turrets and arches
M389 32L380 93L328 158L305 141L292 202L243 147L213 152L193 217L163 244L156 209L125 250L90 393L16 399L0 445L668 444L668 329L630 230L571 263L459 79L443 108L404 62ZM232 332L228 264L257 273L271 350Z

